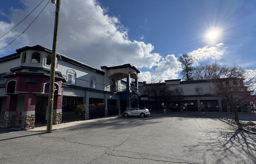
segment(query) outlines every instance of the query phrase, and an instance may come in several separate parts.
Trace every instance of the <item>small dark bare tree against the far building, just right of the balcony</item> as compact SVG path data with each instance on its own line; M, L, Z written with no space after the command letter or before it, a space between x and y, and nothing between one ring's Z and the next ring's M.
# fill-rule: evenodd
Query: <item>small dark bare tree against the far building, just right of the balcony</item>
M163 101L176 94L176 89L171 90L162 80L151 78L144 84L142 92L143 94L153 97L157 104L157 109L159 109Z

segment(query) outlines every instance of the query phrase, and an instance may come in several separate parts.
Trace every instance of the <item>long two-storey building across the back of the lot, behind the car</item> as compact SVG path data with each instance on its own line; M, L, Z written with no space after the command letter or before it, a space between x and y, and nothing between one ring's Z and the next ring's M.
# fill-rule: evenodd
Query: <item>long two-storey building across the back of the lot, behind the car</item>
M144 82L138 83L140 91L139 105L153 110L159 109L153 96L143 93L143 88L150 85ZM210 94L209 80L181 81L181 79L165 80L158 85L168 86L174 90L172 95L158 97L161 101L161 109L171 112L232 112L232 108L220 98ZM239 112L251 112L250 103L239 107Z

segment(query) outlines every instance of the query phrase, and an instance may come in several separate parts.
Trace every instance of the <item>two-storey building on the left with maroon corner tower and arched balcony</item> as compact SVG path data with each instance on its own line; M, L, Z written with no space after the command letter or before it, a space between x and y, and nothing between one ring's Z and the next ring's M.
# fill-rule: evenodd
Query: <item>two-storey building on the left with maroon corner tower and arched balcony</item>
M0 58L3 127L20 123L24 130L32 129L35 120L46 119L51 54L50 49L36 45ZM102 66L99 70L59 53L56 61L53 124L61 124L63 110L71 105L86 104L85 119L90 118L89 104L105 103L103 116L137 106L140 71L131 64Z

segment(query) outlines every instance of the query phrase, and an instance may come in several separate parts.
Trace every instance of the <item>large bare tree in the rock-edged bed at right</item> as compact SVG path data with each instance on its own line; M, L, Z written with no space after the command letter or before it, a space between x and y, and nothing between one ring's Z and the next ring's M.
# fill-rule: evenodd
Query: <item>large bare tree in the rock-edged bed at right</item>
M255 71L224 65L221 66L221 74L210 82L213 84L210 86L211 94L226 101L235 114L235 121L239 121L238 107L255 100Z

